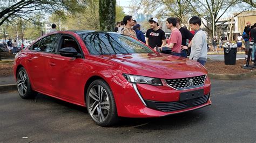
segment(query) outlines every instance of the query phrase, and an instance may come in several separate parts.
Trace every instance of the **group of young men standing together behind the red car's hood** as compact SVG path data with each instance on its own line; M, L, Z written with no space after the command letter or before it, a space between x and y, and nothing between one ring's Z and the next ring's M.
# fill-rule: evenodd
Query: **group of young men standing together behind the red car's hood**
M207 60L207 41L206 35L200 28L201 19L194 16L189 23L192 32L180 26L179 18L167 18L166 27L172 32L170 38L167 39L168 42L166 42L165 32L159 28L158 19L155 17L149 19L151 28L146 31L146 38L140 31L140 25L137 24L136 20L132 19L132 16L125 16L122 22L117 22L115 32L137 38L155 51L161 51L163 47L170 48L172 55L184 58L187 58L185 49L191 48L189 59L205 65ZM187 44L188 40L190 41L189 44Z

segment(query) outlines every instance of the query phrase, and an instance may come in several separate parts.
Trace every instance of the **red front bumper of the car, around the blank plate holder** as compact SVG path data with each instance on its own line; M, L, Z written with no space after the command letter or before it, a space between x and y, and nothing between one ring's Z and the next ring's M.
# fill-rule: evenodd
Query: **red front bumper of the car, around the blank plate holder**
M120 82L119 82L120 83ZM122 88L113 91L116 100L118 116L130 118L162 117L176 113L196 110L211 105L210 80L206 79L203 87L175 90L168 86L152 86L148 84L136 84L126 82ZM181 92L204 90L204 96L179 101Z

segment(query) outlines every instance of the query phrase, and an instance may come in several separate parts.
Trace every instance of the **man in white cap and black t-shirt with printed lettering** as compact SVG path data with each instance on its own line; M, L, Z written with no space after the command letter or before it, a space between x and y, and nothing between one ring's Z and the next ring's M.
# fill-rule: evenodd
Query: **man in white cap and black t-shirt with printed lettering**
M166 44L165 32L158 27L158 19L151 18L149 23L152 28L146 32L146 45L151 48L164 46Z

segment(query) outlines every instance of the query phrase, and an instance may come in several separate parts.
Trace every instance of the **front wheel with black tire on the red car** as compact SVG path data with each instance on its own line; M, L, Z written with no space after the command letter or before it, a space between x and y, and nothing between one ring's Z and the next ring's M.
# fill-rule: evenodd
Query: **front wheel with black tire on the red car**
M118 123L114 96L104 80L95 80L89 85L86 106L90 117L99 126L112 126Z

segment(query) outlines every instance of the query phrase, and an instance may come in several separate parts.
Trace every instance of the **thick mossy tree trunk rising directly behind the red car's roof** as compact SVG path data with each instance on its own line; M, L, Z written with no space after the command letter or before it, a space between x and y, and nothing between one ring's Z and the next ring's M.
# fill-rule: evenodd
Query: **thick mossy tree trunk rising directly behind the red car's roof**
M116 0L99 0L99 25L102 31L114 31Z

